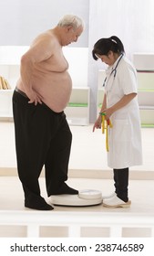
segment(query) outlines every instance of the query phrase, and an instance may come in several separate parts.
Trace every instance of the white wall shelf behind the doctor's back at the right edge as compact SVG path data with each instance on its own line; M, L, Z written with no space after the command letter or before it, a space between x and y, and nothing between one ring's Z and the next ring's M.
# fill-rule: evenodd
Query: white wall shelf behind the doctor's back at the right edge
M134 53L142 127L154 127L154 53Z

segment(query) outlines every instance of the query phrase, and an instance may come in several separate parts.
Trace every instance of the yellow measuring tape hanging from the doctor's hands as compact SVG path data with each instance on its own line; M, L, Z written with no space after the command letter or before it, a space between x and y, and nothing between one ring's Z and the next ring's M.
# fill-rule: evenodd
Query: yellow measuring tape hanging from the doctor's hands
M106 118L105 118L106 113L105 112L100 112L99 114L102 117L102 120L101 120L102 133L105 133L105 131L106 131L106 149L107 149L107 151L109 151L109 146L108 146L108 126L109 126L109 128L112 128L112 123L111 123L111 121L109 119L106 120Z

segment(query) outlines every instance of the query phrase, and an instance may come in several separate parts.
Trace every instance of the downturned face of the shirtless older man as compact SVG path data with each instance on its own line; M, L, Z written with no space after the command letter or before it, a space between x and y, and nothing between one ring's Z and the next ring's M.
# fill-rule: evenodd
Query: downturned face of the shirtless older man
M83 32L83 27L77 27L77 29L69 26L66 27L66 35L64 38L64 46L67 46L73 42L77 42L78 37L80 37L80 35Z

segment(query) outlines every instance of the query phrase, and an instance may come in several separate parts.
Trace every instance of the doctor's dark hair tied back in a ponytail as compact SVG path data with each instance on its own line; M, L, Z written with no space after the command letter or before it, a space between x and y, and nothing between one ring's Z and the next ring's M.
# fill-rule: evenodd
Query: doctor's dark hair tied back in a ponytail
M114 53L124 53L125 49L121 42L121 40L116 37L108 37L108 38L101 38L96 42L94 48L92 50L92 56L95 60L98 60L98 55L107 55L109 51L113 51Z

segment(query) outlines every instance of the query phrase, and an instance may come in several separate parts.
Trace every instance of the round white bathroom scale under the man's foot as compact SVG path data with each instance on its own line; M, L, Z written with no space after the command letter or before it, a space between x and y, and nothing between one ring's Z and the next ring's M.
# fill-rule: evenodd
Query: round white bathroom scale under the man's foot
M78 195L56 195L49 197L49 202L57 206L86 207L102 203L102 193L98 190L85 189Z

